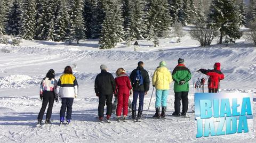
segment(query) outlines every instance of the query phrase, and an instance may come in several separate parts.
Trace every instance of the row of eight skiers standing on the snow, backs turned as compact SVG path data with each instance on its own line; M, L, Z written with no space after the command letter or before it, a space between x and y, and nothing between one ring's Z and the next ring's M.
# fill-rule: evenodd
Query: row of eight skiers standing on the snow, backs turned
M127 121L128 108L132 110L132 119L139 120L143 111L143 100L147 95L150 85L149 74L143 68L144 63L138 62L138 67L134 69L130 77L126 74L124 68L118 68L116 77L108 71L106 65L100 65L101 72L97 75L94 82L94 90L97 97L99 97L98 118L100 121L104 119L104 107L107 105L106 120L110 122L112 113L116 113L117 121ZM213 70L199 69L197 72L202 72L209 75L208 88L209 92L218 92L219 81L224 79L223 73L220 71L220 63L214 64ZM152 78L153 87L156 88L156 113L153 117L164 118L167 107L167 96L169 95L170 83L174 81L174 116L186 116L188 111L188 91L189 80L191 79L191 72L185 66L185 61L179 58L178 65L171 73L166 68L165 61L161 61L154 72ZM154 91L154 89L153 89ZM115 95L115 102L113 106L112 99ZM133 95L132 102L129 97ZM60 123L64 122L65 112L67 110L67 124L71 122L72 105L75 97L78 96L78 83L76 77L73 75L70 66L66 66L59 81L55 80L54 70L50 69L46 77L43 78L40 87L40 98L43 99L42 108L38 114L38 124L42 123L43 115L47 104L49 107L46 113L45 123L50 123L52 106L54 99L57 102L61 98L60 109ZM137 100L139 98L139 107L137 108ZM180 113L180 100L182 101L182 111ZM161 111L162 107L162 112ZM138 109L138 110L137 110ZM138 111L138 113L137 113Z

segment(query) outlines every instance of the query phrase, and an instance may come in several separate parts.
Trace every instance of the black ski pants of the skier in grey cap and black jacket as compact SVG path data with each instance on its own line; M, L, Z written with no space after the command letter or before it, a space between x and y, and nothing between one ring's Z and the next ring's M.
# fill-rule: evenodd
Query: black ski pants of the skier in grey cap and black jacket
M99 106L98 106L99 117L104 116L105 103L107 105L107 115L111 115L112 105L113 105L112 99L113 99L113 95L100 95L99 96Z

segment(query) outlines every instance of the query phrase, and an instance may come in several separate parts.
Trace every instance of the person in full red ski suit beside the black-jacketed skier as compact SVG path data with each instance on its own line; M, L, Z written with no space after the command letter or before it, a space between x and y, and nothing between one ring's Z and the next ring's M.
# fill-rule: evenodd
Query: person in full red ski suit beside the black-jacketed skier
M125 73L123 68L119 68L116 71L117 77L116 81L116 90L117 90L117 108L116 108L116 116L117 121L120 121L120 116L123 109L123 120L126 121L126 117L128 114L128 101L130 96L130 90L132 89L131 81L129 76Z

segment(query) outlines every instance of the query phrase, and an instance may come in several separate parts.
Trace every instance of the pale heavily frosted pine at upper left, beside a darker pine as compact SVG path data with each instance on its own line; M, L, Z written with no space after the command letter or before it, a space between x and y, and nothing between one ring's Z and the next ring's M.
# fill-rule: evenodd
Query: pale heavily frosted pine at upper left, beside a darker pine
M35 1L22 1L21 35L23 39L32 40L35 37Z

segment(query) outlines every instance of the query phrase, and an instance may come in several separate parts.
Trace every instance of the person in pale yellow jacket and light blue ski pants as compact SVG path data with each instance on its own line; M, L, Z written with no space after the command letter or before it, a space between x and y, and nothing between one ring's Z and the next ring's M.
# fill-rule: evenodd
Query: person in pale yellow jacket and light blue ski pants
M153 117L165 117L167 96L169 94L170 83L172 82L171 72L166 68L165 61L159 63L153 75L153 87L156 88L156 113ZM162 105L162 113L160 114L160 107Z

